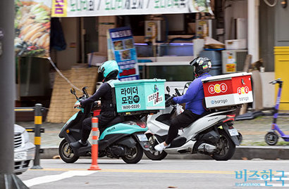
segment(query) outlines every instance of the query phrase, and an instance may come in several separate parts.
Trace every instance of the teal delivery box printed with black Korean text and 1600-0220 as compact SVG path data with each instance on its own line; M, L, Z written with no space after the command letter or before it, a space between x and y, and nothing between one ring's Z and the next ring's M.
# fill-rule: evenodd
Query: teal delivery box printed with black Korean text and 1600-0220
M115 83L117 111L136 113L165 109L164 82L166 79L140 79Z

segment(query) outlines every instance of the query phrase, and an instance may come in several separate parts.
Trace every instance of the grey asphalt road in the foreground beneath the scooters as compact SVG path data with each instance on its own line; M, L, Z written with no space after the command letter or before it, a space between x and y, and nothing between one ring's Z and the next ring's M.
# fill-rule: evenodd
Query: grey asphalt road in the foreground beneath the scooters
M32 189L289 188L288 160L216 162L192 159L162 161L142 159L138 164L125 164L121 159L99 159L98 165L102 170L87 171L90 164L91 159L79 159L74 164L66 164L61 159L42 159L41 166L44 169L30 169L18 177ZM282 174L287 177L280 178ZM266 184L271 186L265 186Z

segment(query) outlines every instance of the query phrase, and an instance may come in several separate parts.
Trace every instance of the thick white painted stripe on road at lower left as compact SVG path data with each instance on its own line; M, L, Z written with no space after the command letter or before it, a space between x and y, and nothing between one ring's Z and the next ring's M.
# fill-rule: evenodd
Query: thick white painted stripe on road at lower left
M87 169L86 169L87 170ZM66 171L62 174L54 174L54 175L47 175L47 176L39 176L37 178L32 178L27 181L23 181L27 187L30 187L32 185L39 185L43 183L51 183L54 181L59 181L64 178L70 178L73 176L87 176L90 174L94 174L97 171Z

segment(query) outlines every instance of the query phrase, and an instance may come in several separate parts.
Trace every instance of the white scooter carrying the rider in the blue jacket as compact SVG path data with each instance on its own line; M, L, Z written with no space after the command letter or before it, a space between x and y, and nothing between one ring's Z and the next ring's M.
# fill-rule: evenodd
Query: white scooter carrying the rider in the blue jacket
M185 84L185 89L190 84ZM184 91L185 91L184 89ZM170 91L169 87L166 90ZM180 93L177 91L178 95ZM166 98L169 95L166 94ZM147 116L146 132L149 139L149 150L145 155L152 160L161 160L167 154L202 153L216 160L228 160L235 153L235 145L240 145L242 135L233 127L234 110L216 110L204 113L203 117L178 132L171 146L163 151L154 150L154 146L165 141L170 120L176 116L177 105L167 105L155 115Z

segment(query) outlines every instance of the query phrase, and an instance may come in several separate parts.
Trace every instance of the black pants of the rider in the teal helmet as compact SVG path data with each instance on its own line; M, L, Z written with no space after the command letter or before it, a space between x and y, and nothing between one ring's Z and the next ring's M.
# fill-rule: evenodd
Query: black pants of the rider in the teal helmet
M116 116L114 113L104 113L96 116L99 119L99 131L102 133ZM82 121L82 138L81 141L87 141L88 137L90 137L90 131L92 130L92 117L87 117Z

